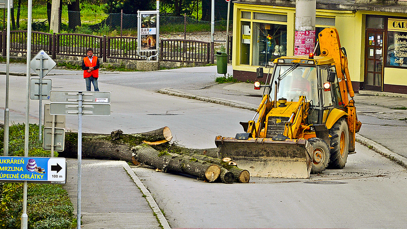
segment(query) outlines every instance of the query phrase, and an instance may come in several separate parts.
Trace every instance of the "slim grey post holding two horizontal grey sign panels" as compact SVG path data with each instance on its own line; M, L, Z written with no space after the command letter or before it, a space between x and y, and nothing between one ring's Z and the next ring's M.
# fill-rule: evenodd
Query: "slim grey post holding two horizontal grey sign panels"
M53 142L52 142L53 143ZM80 229L80 201L81 201L81 164L82 164L82 92L78 93L78 203L77 229Z

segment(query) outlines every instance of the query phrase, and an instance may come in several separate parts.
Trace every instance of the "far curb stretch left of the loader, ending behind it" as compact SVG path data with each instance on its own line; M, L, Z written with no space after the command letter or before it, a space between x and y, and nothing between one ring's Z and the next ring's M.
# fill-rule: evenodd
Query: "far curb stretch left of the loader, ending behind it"
M178 97L184 97L184 98L189 98L189 99L196 99L196 100L201 100L205 102L212 102L212 103L217 103L220 105L225 105L233 108L240 108L240 109L246 109L246 110L252 110L255 111L257 108L256 107L251 107L251 106L245 106L237 102L231 102L228 100L223 100L219 98L211 98L211 97L204 97L204 96L199 96L199 95L194 95L194 94L188 94L182 91L177 91L172 88L163 88L157 91L158 93L161 94L167 94L167 95L173 95L173 96L178 96Z

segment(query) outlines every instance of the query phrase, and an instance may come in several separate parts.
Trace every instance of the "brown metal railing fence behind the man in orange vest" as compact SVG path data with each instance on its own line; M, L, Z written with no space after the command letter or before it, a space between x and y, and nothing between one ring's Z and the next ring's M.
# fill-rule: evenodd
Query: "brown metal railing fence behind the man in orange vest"
M4 30L0 33L0 48L6 56L6 38ZM61 56L84 56L88 47L94 49L95 55L103 62L112 59L143 60L137 55L137 37L106 37L88 34L49 34L32 32L31 52L35 54L41 49L49 53L53 59ZM209 43L197 40L161 40L160 60L197 64L208 64L210 61ZM27 31L10 32L10 52L27 53ZM141 52L145 55L145 52ZM155 54L155 53L153 53Z

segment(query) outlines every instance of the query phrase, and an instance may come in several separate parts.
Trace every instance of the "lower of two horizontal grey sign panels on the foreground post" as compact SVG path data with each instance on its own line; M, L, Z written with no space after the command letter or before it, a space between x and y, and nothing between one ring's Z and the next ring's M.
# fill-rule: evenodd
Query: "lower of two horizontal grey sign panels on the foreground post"
M78 115L78 103L51 102L51 115ZM109 103L88 103L82 105L82 115L110 116Z

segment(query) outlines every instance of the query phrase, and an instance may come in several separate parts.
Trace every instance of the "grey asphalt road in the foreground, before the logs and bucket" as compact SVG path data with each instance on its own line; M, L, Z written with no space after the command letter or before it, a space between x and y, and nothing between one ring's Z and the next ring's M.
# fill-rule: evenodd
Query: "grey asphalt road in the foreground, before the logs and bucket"
M341 170L310 179L208 183L133 167L172 228L405 228L407 173L356 144Z

